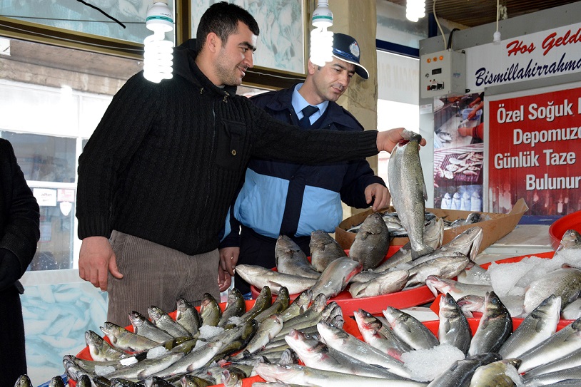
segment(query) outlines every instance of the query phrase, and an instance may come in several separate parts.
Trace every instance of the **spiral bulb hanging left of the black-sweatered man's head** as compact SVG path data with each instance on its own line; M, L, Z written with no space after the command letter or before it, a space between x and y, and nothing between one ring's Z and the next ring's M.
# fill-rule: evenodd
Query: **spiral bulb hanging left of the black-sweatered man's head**
M143 40L143 76L155 83L171 79L173 42L166 41L166 32L173 30L173 18L167 0L153 0L147 11L146 27L153 35Z

